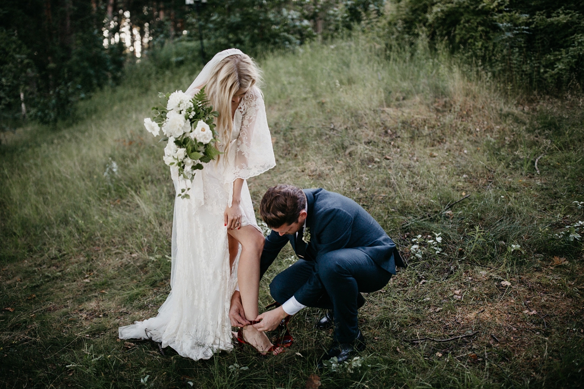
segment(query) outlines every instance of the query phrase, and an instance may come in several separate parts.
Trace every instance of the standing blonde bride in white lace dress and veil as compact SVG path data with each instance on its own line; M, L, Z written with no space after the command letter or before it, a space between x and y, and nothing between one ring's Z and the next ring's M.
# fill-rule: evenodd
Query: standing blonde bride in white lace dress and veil
M120 327L120 339L152 339L194 360L230 351L228 312L237 284L245 318L258 316L264 237L245 180L276 165L259 80L252 59L232 48L217 53L187 89L194 96L204 86L219 112L215 124L223 154L197 171L190 198L175 199L171 293L158 316ZM171 176L179 194L187 185L176 167ZM253 325L243 335L259 352L279 352Z

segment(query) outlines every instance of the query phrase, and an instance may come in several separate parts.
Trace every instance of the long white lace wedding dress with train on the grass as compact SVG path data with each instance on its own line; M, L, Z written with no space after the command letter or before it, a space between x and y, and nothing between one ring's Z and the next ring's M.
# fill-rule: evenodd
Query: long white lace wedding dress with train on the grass
M171 293L158 316L120 327L120 339L150 338L194 360L232 349L228 312L237 283L239 255L234 269L230 269L223 212L231 204L236 178L257 176L276 164L263 96L257 87L239 104L231 152L222 157L221 163L213 161L197 171L190 183L189 199L175 199ZM178 194L189 183L179 179L176 167L171 167L171 175ZM240 207L242 225L259 229L246 182Z

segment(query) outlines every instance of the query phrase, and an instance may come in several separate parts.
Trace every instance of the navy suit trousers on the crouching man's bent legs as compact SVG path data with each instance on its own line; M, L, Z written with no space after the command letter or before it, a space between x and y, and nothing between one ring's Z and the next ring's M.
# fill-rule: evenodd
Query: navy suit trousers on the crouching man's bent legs
M357 296L375 292L390 281L391 273L356 248L320 255L317 261L298 260L274 277L270 293L283 304L292 296L308 307L332 309L335 341L350 343L359 334Z

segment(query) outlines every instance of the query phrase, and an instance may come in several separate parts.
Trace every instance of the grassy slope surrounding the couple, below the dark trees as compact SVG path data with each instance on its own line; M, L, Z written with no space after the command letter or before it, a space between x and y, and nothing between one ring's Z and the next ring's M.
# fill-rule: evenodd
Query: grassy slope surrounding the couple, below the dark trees
M277 166L249 180L256 205L277 183L353 198L409 258L366 296L354 366L315 370L331 341L315 309L275 358L194 362L117 339L169 292L173 187L142 119L196 74L143 65L75 121L2 134L2 387L304 388L313 373L322 388L584 386L582 96L509 96L423 45L379 47L259 59ZM261 304L291 261L287 248Z

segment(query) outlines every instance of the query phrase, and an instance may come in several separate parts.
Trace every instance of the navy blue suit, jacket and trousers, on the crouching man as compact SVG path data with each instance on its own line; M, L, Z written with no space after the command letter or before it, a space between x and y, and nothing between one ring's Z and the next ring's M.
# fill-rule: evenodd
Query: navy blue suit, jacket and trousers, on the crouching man
M265 240L260 273L289 241L303 259L274 277L272 297L280 304L294 296L305 306L332 309L335 340L352 342L359 332L359 292L383 288L396 265L406 265L379 223L352 199L321 188L305 189L304 194L310 242L301 240L303 229L298 237L272 231Z

